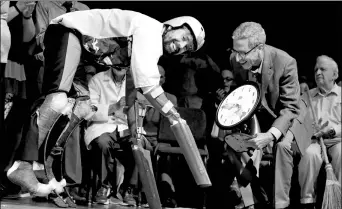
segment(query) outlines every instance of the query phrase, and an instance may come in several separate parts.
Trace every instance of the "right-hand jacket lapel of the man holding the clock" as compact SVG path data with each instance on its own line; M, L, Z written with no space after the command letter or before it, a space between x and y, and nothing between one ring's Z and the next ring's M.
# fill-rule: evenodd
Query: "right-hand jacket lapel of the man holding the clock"
M270 80L273 76L274 69L272 63L272 52L268 45L264 48L264 63L261 69L261 96L264 97Z

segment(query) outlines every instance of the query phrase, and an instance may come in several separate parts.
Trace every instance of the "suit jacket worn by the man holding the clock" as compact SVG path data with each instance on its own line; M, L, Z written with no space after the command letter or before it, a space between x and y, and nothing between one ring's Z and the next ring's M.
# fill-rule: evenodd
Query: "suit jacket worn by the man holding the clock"
M248 80L248 71L244 70L236 62L233 54L230 57L230 62L236 83L239 86ZM300 105L300 87L296 60L280 49L265 45L260 88L261 105L273 116L274 121L271 126L281 131L282 136L285 136L294 124L302 126L302 129L296 128L295 130L291 129L291 131L293 130L297 144L303 153L306 149L305 146L308 145L306 142L302 143L299 140L303 140L302 136L310 133L306 133L307 129L303 122L307 120L307 114L302 113L300 117L302 121L298 120L301 113L300 106L303 106L303 104ZM305 140L310 142L310 138Z

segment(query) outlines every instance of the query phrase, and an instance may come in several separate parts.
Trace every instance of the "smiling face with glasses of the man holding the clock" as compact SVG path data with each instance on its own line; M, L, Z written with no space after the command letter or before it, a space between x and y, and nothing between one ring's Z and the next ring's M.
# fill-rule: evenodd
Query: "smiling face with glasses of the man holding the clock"
M236 61L245 70L260 65L261 56L258 51L258 47L250 48L248 46L248 39L233 40L233 53L235 53Z

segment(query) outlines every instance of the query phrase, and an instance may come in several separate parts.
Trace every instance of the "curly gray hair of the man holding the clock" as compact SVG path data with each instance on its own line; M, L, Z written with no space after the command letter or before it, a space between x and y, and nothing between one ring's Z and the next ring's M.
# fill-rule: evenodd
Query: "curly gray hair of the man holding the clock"
M248 39L248 46L253 48L266 43L266 33L259 23L241 23L233 32L233 40Z

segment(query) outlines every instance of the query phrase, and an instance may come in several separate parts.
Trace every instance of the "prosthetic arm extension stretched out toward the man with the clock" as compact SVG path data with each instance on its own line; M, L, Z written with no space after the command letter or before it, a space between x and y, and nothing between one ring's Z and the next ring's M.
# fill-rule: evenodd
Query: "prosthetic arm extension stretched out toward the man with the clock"
M171 123L171 130L174 133L183 155L190 167L197 185L209 187L211 182L199 154L195 139L186 121L183 120L170 100L165 96L160 86L155 86L146 93L146 99L164 116L168 117Z

